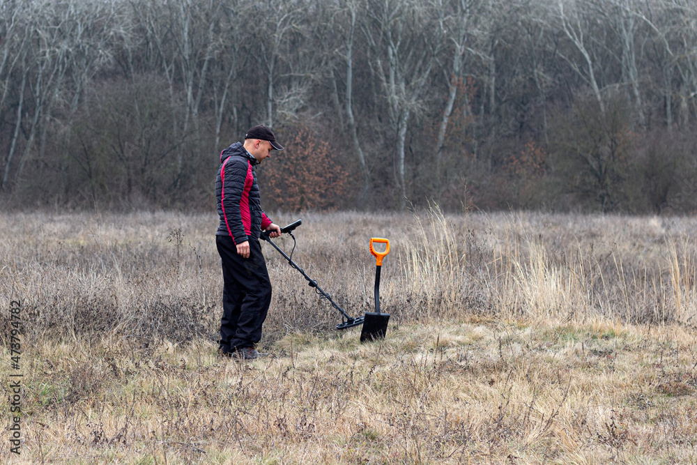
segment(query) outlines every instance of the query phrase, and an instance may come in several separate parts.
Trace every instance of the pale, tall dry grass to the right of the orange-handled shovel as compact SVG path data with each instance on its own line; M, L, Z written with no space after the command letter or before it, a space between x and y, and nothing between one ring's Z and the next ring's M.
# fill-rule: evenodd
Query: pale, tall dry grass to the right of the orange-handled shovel
M496 213L415 215L400 284L406 317L693 326L694 218ZM408 302L411 304L411 301Z

